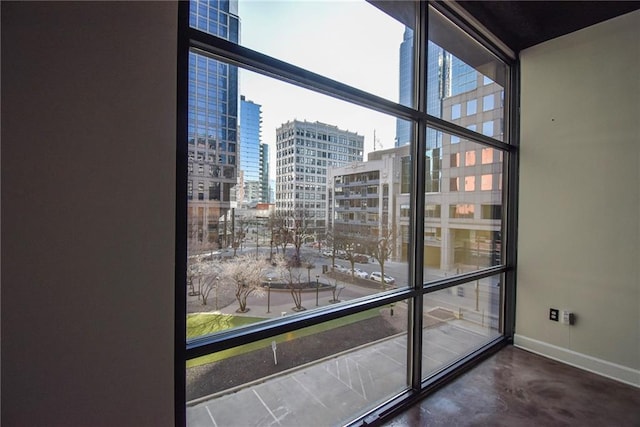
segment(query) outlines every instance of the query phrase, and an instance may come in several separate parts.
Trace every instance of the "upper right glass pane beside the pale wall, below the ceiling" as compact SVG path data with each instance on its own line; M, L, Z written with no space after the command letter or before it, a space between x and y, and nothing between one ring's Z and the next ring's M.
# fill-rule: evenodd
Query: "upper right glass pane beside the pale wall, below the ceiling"
M429 12L427 112L504 140L507 66L441 14Z

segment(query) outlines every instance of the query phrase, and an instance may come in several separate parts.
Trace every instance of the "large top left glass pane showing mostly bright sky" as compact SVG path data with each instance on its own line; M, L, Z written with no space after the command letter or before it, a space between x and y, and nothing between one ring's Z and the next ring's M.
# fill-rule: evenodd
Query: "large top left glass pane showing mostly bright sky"
M399 77L413 63L409 2L191 0L190 10L192 27L411 105L411 80Z

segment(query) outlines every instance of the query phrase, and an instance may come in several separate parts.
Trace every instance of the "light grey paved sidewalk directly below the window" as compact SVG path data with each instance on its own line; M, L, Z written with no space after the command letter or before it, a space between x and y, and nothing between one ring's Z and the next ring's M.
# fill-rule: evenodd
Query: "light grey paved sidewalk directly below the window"
M424 329L423 376L488 341L453 320ZM406 388L407 338L399 334L187 404L190 426L343 424ZM266 362L266 363L273 363Z

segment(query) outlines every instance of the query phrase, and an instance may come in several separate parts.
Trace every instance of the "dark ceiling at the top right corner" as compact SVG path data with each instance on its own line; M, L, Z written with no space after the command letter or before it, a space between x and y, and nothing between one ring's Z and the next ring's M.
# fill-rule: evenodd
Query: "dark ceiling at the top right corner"
M640 1L459 0L458 4L516 53L640 8Z

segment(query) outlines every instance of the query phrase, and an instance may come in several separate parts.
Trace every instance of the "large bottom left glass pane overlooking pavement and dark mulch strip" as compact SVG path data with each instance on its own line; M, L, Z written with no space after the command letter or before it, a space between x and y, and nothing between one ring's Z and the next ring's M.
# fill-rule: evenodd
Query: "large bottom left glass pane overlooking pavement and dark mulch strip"
M344 424L407 388L406 325L403 301L192 360L187 424Z

